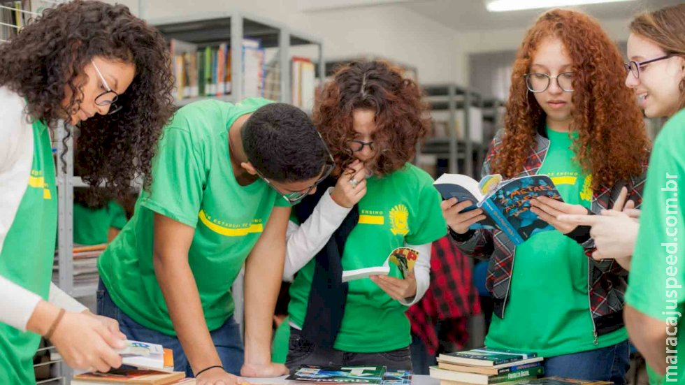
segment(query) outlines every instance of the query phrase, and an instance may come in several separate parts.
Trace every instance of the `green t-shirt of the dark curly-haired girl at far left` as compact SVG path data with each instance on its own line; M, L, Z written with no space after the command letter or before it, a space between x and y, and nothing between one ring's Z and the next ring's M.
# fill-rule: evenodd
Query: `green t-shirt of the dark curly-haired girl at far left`
M41 122L34 122L32 129L31 173L0 252L0 275L48 300L57 233L57 183L50 131ZM0 383L36 383L34 355L40 341L36 333L0 323Z

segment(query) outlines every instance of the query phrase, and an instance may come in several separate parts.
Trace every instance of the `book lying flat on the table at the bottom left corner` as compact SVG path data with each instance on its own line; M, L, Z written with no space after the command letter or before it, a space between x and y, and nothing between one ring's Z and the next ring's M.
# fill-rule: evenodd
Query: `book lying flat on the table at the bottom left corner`
M195 379L185 378L185 372L168 373L155 370L113 369L106 373L87 372L75 375L71 384L193 385Z

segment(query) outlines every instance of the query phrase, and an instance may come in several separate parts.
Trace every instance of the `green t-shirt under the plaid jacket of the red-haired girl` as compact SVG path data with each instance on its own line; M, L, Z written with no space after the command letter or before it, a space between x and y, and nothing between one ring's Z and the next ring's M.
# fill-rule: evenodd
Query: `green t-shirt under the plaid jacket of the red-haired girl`
M573 160L577 133L547 129L549 150L538 174L551 177L571 205L590 208L591 175ZM504 319L493 317L488 347L561 356L617 344L625 328L601 335L595 344L588 294L589 259L583 247L559 231L533 235L516 248L509 302Z

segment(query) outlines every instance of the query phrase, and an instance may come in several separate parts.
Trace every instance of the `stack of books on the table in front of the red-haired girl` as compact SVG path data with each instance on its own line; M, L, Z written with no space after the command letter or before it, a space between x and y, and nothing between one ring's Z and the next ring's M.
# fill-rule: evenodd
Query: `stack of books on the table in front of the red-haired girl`
M431 377L440 385L516 384L544 374L542 357L532 352L504 349L471 349L440 354Z

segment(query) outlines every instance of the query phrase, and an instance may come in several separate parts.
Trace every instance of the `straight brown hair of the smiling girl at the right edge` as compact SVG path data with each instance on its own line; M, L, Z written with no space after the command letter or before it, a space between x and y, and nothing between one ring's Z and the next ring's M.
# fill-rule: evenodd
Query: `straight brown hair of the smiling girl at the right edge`
M640 13L630 22L630 31L653 41L666 55L685 58L685 4ZM685 108L685 79L680 91L678 110Z

